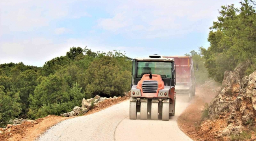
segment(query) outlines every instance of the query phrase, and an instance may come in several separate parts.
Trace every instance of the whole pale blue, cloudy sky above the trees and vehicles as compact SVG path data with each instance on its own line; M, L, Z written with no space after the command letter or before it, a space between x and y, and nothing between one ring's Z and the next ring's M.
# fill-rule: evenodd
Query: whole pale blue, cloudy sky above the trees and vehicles
M0 63L43 66L70 47L126 55L207 48L221 5L239 0L1 0Z

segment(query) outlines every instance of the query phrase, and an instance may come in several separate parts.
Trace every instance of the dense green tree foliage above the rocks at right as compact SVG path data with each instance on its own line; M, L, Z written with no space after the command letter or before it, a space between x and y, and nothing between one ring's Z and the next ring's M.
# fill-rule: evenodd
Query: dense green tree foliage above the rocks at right
M244 0L241 7L222 6L218 21L213 22L208 35L210 47L200 48L209 76L222 81L224 71L232 71L250 60L247 74L256 70L256 2Z

